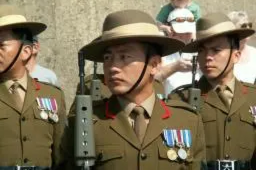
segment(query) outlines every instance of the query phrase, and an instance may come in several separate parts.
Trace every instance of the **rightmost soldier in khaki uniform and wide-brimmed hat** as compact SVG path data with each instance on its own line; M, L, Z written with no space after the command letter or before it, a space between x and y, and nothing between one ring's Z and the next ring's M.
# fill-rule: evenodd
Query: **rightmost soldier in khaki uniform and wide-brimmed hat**
M253 33L236 29L224 14L208 14L197 22L198 39L184 48L199 53L204 75L197 86L208 169L256 169L256 86L239 82L233 75L241 54L239 41ZM187 89L177 94L170 98L188 100Z

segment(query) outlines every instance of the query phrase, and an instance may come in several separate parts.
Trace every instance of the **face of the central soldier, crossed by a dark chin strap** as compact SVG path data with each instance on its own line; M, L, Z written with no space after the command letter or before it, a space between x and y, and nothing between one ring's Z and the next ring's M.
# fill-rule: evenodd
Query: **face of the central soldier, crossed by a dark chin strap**
M113 94L121 95L129 91L141 75L146 59L145 46L139 42L111 46L106 49L103 58L105 83ZM153 63L154 57L151 57L144 77L132 91L133 94L152 92L153 74L158 66Z

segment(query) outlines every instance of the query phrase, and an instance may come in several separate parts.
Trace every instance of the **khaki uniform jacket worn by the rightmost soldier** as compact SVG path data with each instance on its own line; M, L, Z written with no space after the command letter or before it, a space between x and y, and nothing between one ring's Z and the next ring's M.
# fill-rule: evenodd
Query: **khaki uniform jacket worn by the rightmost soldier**
M250 111L250 106L256 106L256 86L236 80L229 111L204 77L198 82L198 87L202 96L200 113L205 130L207 161L231 159L256 162L256 128ZM185 89L170 97L188 101L187 94Z

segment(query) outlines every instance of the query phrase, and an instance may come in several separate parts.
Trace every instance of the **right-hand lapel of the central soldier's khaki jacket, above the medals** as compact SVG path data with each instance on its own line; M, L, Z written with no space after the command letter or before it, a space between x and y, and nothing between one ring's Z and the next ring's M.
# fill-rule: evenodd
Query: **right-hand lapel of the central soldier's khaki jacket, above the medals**
M165 125L165 120L162 118L162 115L164 114L165 110L161 106L159 99L156 97L152 117L150 119L150 123L147 126L144 141L142 143L142 149L147 147L148 144L159 137L159 135L161 135L163 132L163 129L167 127L167 125Z

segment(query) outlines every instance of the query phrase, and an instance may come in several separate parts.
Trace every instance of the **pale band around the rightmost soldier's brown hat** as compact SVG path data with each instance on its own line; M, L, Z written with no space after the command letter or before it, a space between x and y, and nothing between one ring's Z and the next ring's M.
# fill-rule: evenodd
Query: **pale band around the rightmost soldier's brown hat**
M207 30L198 31L197 38L202 39L215 34L220 34L227 31L233 31L235 29L236 29L236 26L234 26L234 24L231 21L226 21L226 22L219 23Z

